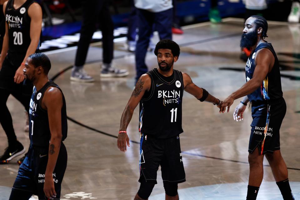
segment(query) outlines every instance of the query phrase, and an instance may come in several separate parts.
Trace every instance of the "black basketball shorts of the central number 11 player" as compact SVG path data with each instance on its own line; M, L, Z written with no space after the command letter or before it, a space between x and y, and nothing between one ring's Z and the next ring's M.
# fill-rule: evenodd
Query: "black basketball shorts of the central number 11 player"
M179 135L173 138L158 139L151 135L141 134L140 143L140 178L139 182L153 182L159 165L163 181L172 183L185 182L183 158L180 149Z

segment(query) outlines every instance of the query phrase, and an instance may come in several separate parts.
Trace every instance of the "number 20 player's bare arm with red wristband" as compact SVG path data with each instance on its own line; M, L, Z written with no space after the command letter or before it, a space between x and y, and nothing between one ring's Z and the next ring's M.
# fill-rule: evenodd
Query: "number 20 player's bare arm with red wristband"
M22 63L25 63L28 56L35 53L37 45L40 42L40 35L42 30L42 8L38 3L32 3L28 8L28 15L31 19L30 21L30 45L27 48L25 58ZM17 69L14 81L16 83L21 83L24 80L23 69L24 65Z

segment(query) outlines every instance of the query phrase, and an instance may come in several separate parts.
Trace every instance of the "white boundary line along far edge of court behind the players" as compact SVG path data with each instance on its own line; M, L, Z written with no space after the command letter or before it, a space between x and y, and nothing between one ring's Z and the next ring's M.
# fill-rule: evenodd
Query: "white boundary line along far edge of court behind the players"
M230 22L230 21L244 22L244 19L243 18L236 18L236 17L227 17L227 18L222 19L222 22ZM211 24L212 24L211 22L201 22L201 23L197 23L197 24L191 24L191 25L183 26L181 28L183 30L187 30L187 29L196 28L196 27L208 26L208 25L211 25ZM269 20L268 20L268 24L298 26L298 27L300 27L300 23L278 22L278 21L269 21ZM127 37L120 37L120 38L113 39L113 42L124 42L126 40L127 40ZM90 46L93 47L93 46L97 46L97 45L101 45L101 44L102 44L102 42L95 42L95 43L91 43ZM62 53L62 52L66 52L66 51L72 51L72 50L76 50L76 49L77 49L77 46L74 46L74 47L67 47L67 48L63 48L63 49L57 49L57 50L53 50L53 51L47 51L47 52L44 52L44 53L46 55L51 55L51 54Z

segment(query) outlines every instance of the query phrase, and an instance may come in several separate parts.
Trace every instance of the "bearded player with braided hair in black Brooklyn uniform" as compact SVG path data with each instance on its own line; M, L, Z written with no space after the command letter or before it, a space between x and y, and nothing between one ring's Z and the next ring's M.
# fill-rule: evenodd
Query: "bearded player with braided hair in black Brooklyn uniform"
M249 142L250 164L247 200L256 199L263 177L263 157L272 168L273 176L284 200L292 200L287 166L280 153L279 129L286 113L282 97L279 64L271 43L265 41L268 24L265 18L253 15L245 22L241 47L252 47L246 65L246 82L227 97L220 106L220 113L227 113L235 99L244 97L235 108L233 119L241 121L247 103L252 103L252 124Z

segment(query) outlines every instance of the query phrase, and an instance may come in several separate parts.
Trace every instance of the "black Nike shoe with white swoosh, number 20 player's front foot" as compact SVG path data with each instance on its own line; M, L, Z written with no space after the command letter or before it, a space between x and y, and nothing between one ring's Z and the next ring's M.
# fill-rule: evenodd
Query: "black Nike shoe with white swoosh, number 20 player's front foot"
M22 153L25 153L25 148L19 141L17 141L17 143L13 146L8 145L8 147L5 149L4 154L0 157L0 164L6 164L10 160L12 160L12 158L17 157Z

